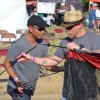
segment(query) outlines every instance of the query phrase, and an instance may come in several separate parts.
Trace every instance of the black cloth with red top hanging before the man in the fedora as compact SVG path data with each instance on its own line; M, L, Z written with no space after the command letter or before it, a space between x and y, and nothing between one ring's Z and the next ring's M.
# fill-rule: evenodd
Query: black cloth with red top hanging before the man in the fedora
M63 96L68 100L94 100L97 95L96 67L84 58L89 59L91 56L96 60L94 56L97 54L69 51L67 55Z

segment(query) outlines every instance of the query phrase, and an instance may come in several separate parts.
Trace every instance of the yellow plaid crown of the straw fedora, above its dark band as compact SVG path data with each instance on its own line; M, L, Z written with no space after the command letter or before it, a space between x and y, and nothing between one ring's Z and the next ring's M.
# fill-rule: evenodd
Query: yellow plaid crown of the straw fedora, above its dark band
M64 14L64 22L76 22L83 18L81 11L73 10L65 12Z

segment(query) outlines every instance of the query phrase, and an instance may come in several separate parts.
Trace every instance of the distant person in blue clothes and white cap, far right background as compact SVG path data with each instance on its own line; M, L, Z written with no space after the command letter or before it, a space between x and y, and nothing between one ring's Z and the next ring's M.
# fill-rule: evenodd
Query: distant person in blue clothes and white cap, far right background
M97 25L96 25L96 9L97 9L97 4L93 3L90 5L90 12L89 12L89 24L88 27L90 31L96 31Z

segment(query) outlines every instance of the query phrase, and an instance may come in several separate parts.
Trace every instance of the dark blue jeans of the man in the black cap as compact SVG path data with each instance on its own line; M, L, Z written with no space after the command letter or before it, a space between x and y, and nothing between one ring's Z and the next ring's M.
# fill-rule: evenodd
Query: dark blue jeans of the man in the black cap
M12 100L31 100L31 95L26 93L20 93L17 89L13 89L10 86L7 86L7 92L12 97Z

